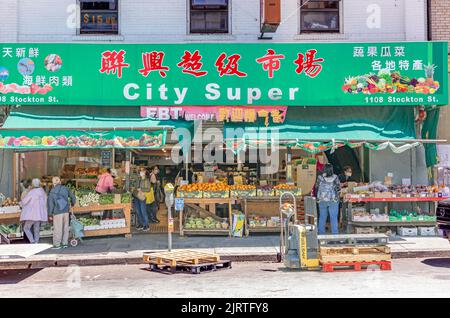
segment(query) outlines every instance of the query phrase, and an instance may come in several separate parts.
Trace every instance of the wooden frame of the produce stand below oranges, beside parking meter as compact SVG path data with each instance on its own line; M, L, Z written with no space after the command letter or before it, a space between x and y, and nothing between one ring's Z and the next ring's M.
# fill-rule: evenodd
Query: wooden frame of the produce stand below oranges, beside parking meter
M236 199L235 198L183 198L184 204L196 204L202 209L206 209L208 205L210 207L210 213L215 215L215 205L216 204L228 204L228 220L229 227L228 230L225 229L185 229L183 224L183 214L184 210L180 211L180 236L184 235L229 235L231 236L232 228L232 207L231 204Z

